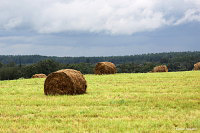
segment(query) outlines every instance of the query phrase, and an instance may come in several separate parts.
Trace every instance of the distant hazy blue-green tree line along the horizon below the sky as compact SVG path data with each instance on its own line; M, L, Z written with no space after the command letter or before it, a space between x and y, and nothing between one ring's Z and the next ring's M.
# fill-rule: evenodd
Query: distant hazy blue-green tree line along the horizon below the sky
M151 53L142 55L129 56L108 56L108 57L55 57L40 55L0 55L0 62L9 64L34 64L42 60L52 59L63 64L91 63L95 64L101 61L110 61L114 64L136 63L143 64L146 62L153 63L172 63L172 62L197 62L200 58L200 51L195 52L169 52L169 53Z

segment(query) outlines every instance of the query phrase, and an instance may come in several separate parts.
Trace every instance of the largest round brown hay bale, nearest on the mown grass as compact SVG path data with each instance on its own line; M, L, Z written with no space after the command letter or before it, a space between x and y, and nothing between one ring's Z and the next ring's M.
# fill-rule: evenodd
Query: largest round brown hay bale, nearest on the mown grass
M87 82L80 71L63 69L48 75L45 95L76 95L86 93Z

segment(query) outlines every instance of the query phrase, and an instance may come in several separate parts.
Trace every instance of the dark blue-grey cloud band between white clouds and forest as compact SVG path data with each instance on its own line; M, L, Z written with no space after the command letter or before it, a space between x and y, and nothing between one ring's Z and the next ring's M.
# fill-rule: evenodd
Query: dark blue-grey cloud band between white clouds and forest
M0 37L0 54L112 56L200 50L198 23L134 35L27 35ZM12 41L11 41L12 40Z

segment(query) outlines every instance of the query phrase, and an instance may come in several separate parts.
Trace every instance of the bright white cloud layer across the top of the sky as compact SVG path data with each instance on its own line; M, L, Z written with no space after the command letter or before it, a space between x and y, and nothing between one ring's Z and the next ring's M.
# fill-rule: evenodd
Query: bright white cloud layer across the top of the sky
M199 21L200 0L1 0L0 29L133 34Z

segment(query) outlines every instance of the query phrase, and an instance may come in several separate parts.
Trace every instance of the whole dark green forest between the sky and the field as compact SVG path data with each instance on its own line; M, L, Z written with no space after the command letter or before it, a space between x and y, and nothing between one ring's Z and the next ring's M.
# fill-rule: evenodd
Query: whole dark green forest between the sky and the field
M166 65L169 72L191 71L200 62L200 52L151 53L109 57L56 57L40 55L0 55L0 80L31 78L37 73L48 75L60 69L76 69L93 74L97 62L109 61L118 73L146 73L157 65Z

